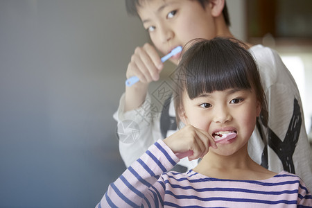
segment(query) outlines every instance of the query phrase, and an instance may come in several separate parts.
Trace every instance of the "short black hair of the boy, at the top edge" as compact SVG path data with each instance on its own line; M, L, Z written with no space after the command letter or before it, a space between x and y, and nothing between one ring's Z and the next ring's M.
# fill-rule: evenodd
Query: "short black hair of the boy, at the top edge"
M135 15L139 16L137 13L137 6L140 6L141 1L148 1L148 0L125 0L125 8L129 15ZM194 0L191 0L194 1ZM195 0L198 1L203 8L205 8L206 4L209 2L209 0ZM222 10L223 18L225 20L225 24L227 26L231 26L231 22L229 21L229 12L227 12L227 3L225 1L224 8Z

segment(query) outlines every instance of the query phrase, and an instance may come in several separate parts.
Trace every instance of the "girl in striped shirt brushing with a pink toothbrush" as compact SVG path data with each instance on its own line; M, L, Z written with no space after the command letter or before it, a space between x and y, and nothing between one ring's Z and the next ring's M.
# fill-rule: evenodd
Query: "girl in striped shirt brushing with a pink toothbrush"
M175 71L177 123L110 184L97 207L312 206L304 182L273 173L248 155L257 117L268 121L266 97L252 55L237 40L196 40ZM180 159L201 158L187 173ZM169 171L169 172L168 172Z

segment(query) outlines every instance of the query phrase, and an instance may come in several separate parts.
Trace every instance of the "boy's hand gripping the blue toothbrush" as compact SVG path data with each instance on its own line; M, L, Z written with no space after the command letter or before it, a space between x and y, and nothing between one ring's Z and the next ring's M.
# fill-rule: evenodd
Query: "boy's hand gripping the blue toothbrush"
M137 47L132 55L126 76L130 78L137 76L141 83L150 83L159 80L159 73L164 64L156 49L146 43L143 47Z

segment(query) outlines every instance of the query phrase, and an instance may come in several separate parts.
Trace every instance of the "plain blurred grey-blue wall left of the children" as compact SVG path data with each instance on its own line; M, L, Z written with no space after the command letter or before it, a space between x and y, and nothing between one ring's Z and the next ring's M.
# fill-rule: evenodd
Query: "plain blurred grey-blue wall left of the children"
M95 207L125 168L112 114L146 40L124 1L0 1L0 207Z

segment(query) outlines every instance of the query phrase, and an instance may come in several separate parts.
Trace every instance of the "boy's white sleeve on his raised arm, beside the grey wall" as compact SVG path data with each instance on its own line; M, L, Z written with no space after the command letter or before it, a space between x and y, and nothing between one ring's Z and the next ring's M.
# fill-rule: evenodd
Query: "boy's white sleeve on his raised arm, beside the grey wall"
M128 167L161 138L160 111L155 110L149 94L141 107L128 112L124 112L124 99L125 94L121 96L114 119L118 122L116 133L119 137L119 152Z

